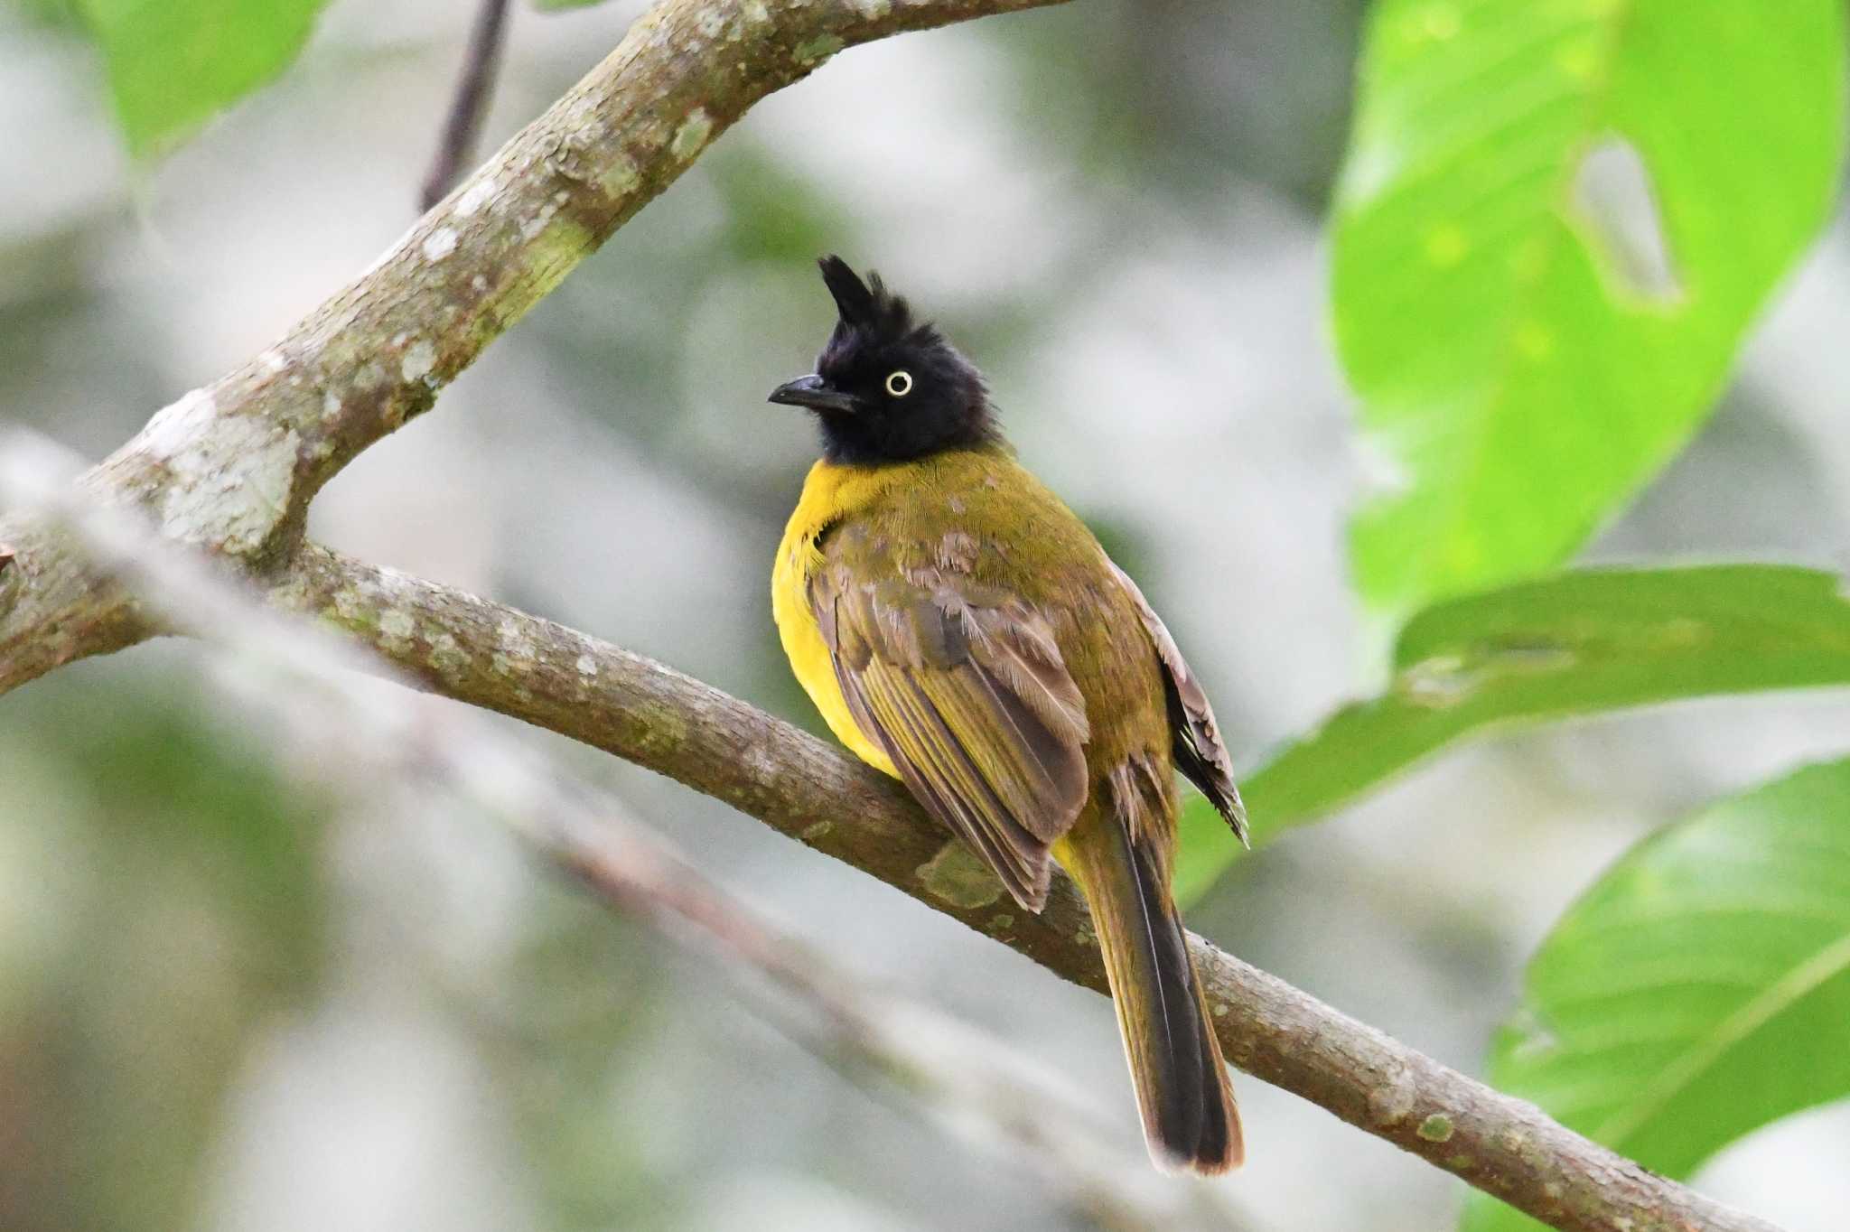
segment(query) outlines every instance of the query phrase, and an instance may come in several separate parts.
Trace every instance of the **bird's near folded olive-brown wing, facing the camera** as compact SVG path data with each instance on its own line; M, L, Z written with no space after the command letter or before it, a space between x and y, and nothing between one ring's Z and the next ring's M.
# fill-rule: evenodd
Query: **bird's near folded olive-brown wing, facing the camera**
M1086 703L1047 620L934 572L857 583L821 568L810 603L855 721L918 801L1029 910L1049 844L1086 803Z

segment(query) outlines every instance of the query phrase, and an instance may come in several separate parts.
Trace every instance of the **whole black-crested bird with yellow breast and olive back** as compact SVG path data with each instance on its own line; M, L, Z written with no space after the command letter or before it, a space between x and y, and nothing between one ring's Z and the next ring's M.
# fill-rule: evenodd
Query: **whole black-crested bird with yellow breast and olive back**
M1086 524L1016 457L988 383L905 296L818 261L836 322L770 401L821 457L771 612L834 736L905 782L1029 912L1077 882L1153 1162L1219 1175L1245 1143L1169 890L1186 775L1245 842L1206 692Z

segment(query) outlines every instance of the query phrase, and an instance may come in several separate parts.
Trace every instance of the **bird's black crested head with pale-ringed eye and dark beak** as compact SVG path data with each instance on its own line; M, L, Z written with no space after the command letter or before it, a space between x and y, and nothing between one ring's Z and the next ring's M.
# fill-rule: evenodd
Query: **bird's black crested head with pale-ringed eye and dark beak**
M982 374L931 322L914 322L879 274L864 283L840 257L818 265L842 318L816 372L771 401L816 413L831 462L879 466L999 440Z

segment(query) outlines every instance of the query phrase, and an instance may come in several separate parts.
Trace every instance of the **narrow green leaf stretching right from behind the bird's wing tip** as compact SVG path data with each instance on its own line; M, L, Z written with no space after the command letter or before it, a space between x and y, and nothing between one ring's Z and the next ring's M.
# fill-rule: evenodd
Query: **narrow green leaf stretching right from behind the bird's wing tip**
M1338 710L1241 782L1254 840L1380 786L1454 740L1682 697L1850 684L1850 599L1817 570L1580 570L1430 607L1388 690ZM1177 893L1240 845L1206 801L1182 814Z

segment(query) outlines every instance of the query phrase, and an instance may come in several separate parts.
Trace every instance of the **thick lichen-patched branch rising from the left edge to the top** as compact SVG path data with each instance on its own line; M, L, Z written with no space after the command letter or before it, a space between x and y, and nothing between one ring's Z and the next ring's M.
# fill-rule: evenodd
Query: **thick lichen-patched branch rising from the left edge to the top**
M662 0L546 115L364 274L85 475L170 538L261 573L309 501L448 381L755 102L845 46L1058 0ZM0 694L148 629L43 529L0 518Z

